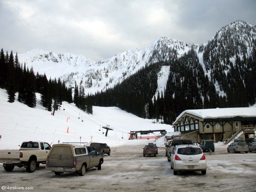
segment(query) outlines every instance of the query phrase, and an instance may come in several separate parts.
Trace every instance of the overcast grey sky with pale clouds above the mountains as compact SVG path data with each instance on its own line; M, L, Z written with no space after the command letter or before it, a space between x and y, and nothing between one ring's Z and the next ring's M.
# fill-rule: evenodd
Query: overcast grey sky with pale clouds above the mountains
M0 47L82 54L94 61L161 36L207 43L236 20L256 25L256 1L0 1Z

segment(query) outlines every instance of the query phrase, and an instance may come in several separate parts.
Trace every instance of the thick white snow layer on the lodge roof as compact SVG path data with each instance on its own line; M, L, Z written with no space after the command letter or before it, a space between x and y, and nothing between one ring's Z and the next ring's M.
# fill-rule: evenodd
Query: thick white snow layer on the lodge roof
M175 124L180 117L185 113L198 116L202 119L216 119L216 118L232 118L236 116L240 117L256 117L255 108L216 108L216 109L192 109L183 111L174 121Z

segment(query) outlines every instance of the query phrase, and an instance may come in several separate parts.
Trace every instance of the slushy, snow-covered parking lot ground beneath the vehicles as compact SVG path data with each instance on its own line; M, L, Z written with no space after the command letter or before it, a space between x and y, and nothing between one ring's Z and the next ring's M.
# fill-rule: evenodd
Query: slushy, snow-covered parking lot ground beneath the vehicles
M136 142L136 141L135 141ZM143 157L143 144L111 148L104 156L102 169L92 168L83 177L75 173L60 176L45 170L45 165L33 173L15 167L4 171L0 165L1 186L33 187L34 191L255 191L256 153L233 154L226 146L214 153L206 152L207 172L178 172L173 175L165 157L163 145L158 155ZM2 190L4 191L4 190Z

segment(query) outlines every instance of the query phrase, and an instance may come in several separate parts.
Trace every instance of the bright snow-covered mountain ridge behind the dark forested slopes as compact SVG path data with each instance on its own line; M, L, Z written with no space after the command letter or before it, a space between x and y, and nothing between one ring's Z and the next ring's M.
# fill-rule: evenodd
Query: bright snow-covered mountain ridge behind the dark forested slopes
M199 45L161 37L144 49L127 50L98 62L81 54L57 54L41 49L33 49L18 56L20 63L26 63L29 68L33 66L39 74L45 73L48 78L60 77L71 86L76 81L84 86L86 93L95 93L122 82L125 76L134 74L146 64L180 57L191 47L198 48Z

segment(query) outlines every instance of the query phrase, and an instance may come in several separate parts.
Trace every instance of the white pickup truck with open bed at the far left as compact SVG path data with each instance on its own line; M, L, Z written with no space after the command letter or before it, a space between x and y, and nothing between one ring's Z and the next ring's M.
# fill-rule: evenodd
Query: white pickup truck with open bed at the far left
M34 172L39 164L46 164L51 146L43 141L25 141L20 150L0 150L0 163L5 171L12 171L14 166L26 167L27 172Z

